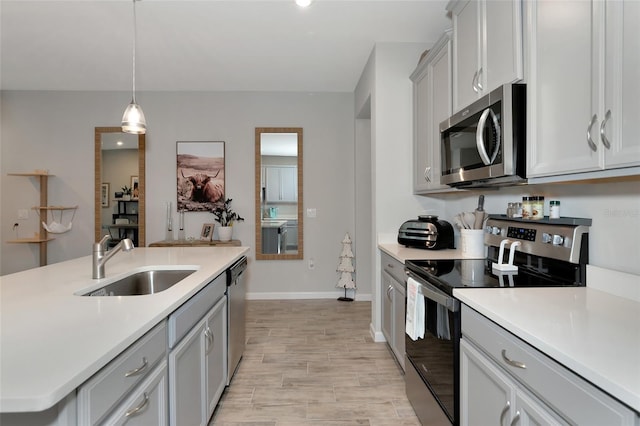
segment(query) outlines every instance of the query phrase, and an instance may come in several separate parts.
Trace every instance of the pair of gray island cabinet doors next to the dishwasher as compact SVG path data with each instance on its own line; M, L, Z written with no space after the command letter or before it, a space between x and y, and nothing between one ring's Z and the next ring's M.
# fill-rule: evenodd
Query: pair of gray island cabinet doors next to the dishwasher
M204 425L226 384L226 298L169 353L169 424Z

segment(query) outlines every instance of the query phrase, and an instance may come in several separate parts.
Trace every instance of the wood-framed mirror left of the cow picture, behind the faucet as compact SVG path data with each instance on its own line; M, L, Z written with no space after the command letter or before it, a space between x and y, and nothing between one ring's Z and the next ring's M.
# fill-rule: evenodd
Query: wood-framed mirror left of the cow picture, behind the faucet
M146 245L145 141L145 135L123 133L121 127L95 128L96 242L109 234L110 246L122 238L131 238L136 247ZM130 197L123 194L124 186L131 189ZM122 195L116 198L116 193Z

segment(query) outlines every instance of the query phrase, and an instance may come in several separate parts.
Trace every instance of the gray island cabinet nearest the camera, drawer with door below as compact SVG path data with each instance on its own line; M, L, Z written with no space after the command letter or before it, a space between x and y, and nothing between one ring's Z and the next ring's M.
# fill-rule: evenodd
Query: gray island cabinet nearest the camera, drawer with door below
M126 412L135 407L130 400L141 400L144 392L150 393L147 388L154 388L153 396L147 402L149 407L144 411L155 414L146 414L144 418L159 416L164 422L154 424L166 425L167 383L162 379L166 376L166 353L167 325L162 321L78 388L78 424L102 424L111 413ZM156 364L158 368L154 369ZM124 399L127 400L121 403Z

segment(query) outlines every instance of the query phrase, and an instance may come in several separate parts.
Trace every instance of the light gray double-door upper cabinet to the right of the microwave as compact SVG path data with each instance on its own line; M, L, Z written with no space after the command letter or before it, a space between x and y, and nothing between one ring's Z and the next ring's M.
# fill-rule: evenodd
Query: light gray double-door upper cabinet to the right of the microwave
M640 2L531 1L525 13L528 177L637 174L620 168L640 165Z

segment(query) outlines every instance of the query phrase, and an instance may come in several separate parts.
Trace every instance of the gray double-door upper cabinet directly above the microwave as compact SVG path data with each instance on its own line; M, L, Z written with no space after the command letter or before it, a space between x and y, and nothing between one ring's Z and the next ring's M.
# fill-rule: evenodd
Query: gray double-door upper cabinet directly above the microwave
M522 2L454 0L453 111L523 78Z

